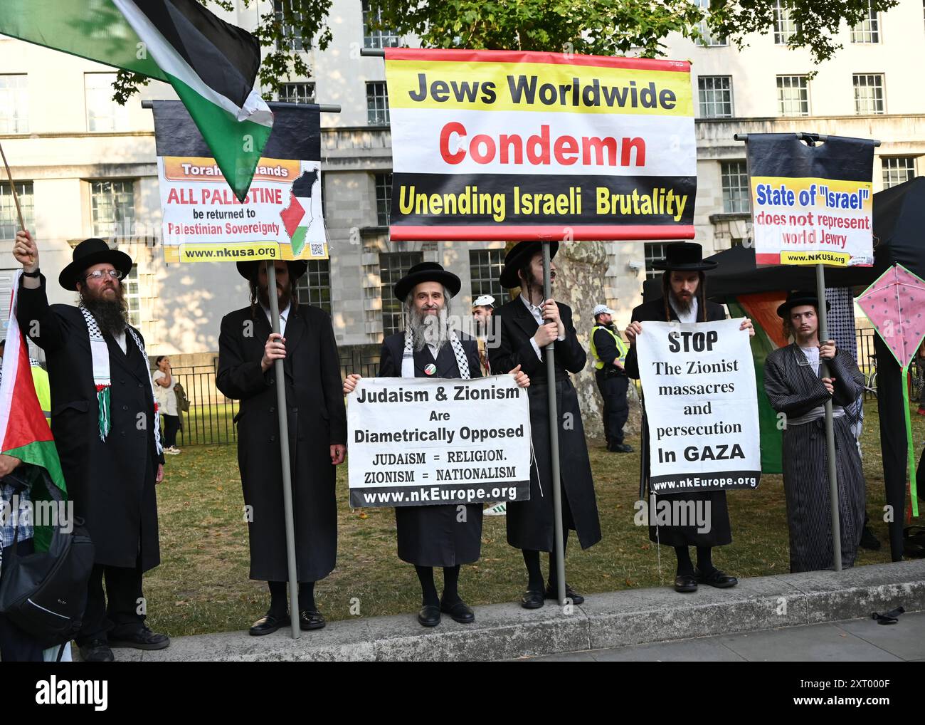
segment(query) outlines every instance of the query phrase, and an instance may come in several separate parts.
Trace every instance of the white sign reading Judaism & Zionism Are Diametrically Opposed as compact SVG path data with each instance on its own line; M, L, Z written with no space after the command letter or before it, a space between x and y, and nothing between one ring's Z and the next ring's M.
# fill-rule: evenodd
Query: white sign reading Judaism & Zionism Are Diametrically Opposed
M510 375L364 378L347 396L351 506L530 497L530 411Z

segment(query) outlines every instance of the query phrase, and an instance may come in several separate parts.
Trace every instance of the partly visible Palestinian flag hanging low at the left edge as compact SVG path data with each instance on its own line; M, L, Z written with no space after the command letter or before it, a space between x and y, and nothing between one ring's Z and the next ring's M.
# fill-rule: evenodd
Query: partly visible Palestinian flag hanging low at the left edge
M44 489L45 481L51 481L48 485L55 485L61 491L59 498L67 498L67 486L61 472L55 440L45 420L38 395L35 394L29 347L19 332L19 322L16 319L16 299L21 274L20 270L13 279L9 324L6 328L3 380L0 381L0 453L16 456L24 463L30 463L48 472L47 477L33 477L33 502L51 499ZM36 548L44 550L51 538L51 531L37 526L34 537Z

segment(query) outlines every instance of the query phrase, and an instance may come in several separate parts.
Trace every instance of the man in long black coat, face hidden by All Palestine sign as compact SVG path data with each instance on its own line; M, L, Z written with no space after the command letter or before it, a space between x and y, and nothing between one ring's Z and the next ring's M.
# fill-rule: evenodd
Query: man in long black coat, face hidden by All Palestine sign
M327 577L337 558L334 467L343 463L347 443L331 319L318 307L299 305L292 294L307 262L274 264L280 332L270 327L266 263L239 262L238 271L250 285L251 305L226 315L218 337L216 387L240 400L238 466L248 506L251 579L267 581L270 589L269 611L251 628L255 636L290 623L275 360L283 360L285 372L302 630L325 626L314 603L314 582Z

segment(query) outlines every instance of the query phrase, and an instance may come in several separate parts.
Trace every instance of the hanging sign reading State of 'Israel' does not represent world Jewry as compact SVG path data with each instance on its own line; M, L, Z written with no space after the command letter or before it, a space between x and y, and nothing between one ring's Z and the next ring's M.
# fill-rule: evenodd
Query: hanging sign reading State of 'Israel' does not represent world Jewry
M759 265L873 264L874 142L749 133L755 261Z

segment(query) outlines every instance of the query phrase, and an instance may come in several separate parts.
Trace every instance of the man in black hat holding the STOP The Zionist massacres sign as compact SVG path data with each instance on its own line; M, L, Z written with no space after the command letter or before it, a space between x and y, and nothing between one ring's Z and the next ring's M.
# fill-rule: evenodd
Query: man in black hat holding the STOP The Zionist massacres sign
M669 244L665 259L653 265L662 269L662 296L657 300L643 303L633 310L632 321L626 328L626 338L630 341L630 350L626 354L626 374L639 378L639 361L636 357L635 339L642 334L642 322L713 322L726 319L722 305L709 302L706 296L706 275L704 272L716 267L716 262L704 260L699 244L680 242ZM750 319L745 319L740 330L755 334ZM643 418L643 436L648 436L648 426ZM641 465L648 480L648 445ZM712 562L712 547L731 544L732 529L729 523L729 509L726 506L724 491L691 492L686 494L659 494L660 498L671 501L703 501L709 506L710 530L697 532L697 524L659 526L649 524L648 538L654 544L667 544L674 547L678 559L678 568L674 580L677 592L696 592L697 583L725 589L735 586L738 580L716 569ZM672 510L675 510L672 506ZM697 568L691 562L688 546L697 547Z

